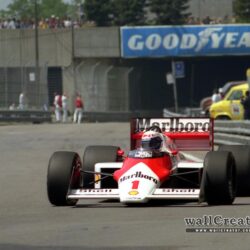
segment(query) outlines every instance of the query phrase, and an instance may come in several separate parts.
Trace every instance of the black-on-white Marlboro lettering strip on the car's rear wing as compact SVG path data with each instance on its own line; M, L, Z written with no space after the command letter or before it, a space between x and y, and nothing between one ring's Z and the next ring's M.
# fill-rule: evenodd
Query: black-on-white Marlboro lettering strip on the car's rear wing
M208 132L210 131L209 119L137 119L136 132L144 131L151 126L158 126L163 132Z

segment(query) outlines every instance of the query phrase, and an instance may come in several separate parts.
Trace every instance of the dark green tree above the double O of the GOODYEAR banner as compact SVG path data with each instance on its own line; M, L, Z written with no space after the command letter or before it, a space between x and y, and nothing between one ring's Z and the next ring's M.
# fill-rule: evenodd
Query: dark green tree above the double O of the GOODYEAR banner
M189 13L189 0L149 0L150 11L155 14L153 19L156 25L184 24Z

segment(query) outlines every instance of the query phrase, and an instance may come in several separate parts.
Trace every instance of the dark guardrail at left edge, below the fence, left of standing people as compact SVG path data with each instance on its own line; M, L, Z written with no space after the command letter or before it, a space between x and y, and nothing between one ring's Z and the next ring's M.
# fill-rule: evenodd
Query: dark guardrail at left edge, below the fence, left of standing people
M0 122L51 122L51 112L42 110L0 110Z

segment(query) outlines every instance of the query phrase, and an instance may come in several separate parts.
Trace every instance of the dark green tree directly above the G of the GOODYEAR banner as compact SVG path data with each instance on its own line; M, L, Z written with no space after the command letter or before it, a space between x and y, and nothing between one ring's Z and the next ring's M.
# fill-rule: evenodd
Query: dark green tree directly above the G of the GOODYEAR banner
M145 24L145 0L114 0L114 24L143 25Z

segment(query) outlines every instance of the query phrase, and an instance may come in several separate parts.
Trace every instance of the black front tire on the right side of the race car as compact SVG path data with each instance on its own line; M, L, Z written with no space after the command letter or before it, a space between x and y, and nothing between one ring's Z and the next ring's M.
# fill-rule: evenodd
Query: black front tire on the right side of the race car
M235 161L231 152L211 151L204 159L202 176L208 205L232 204L236 195Z

